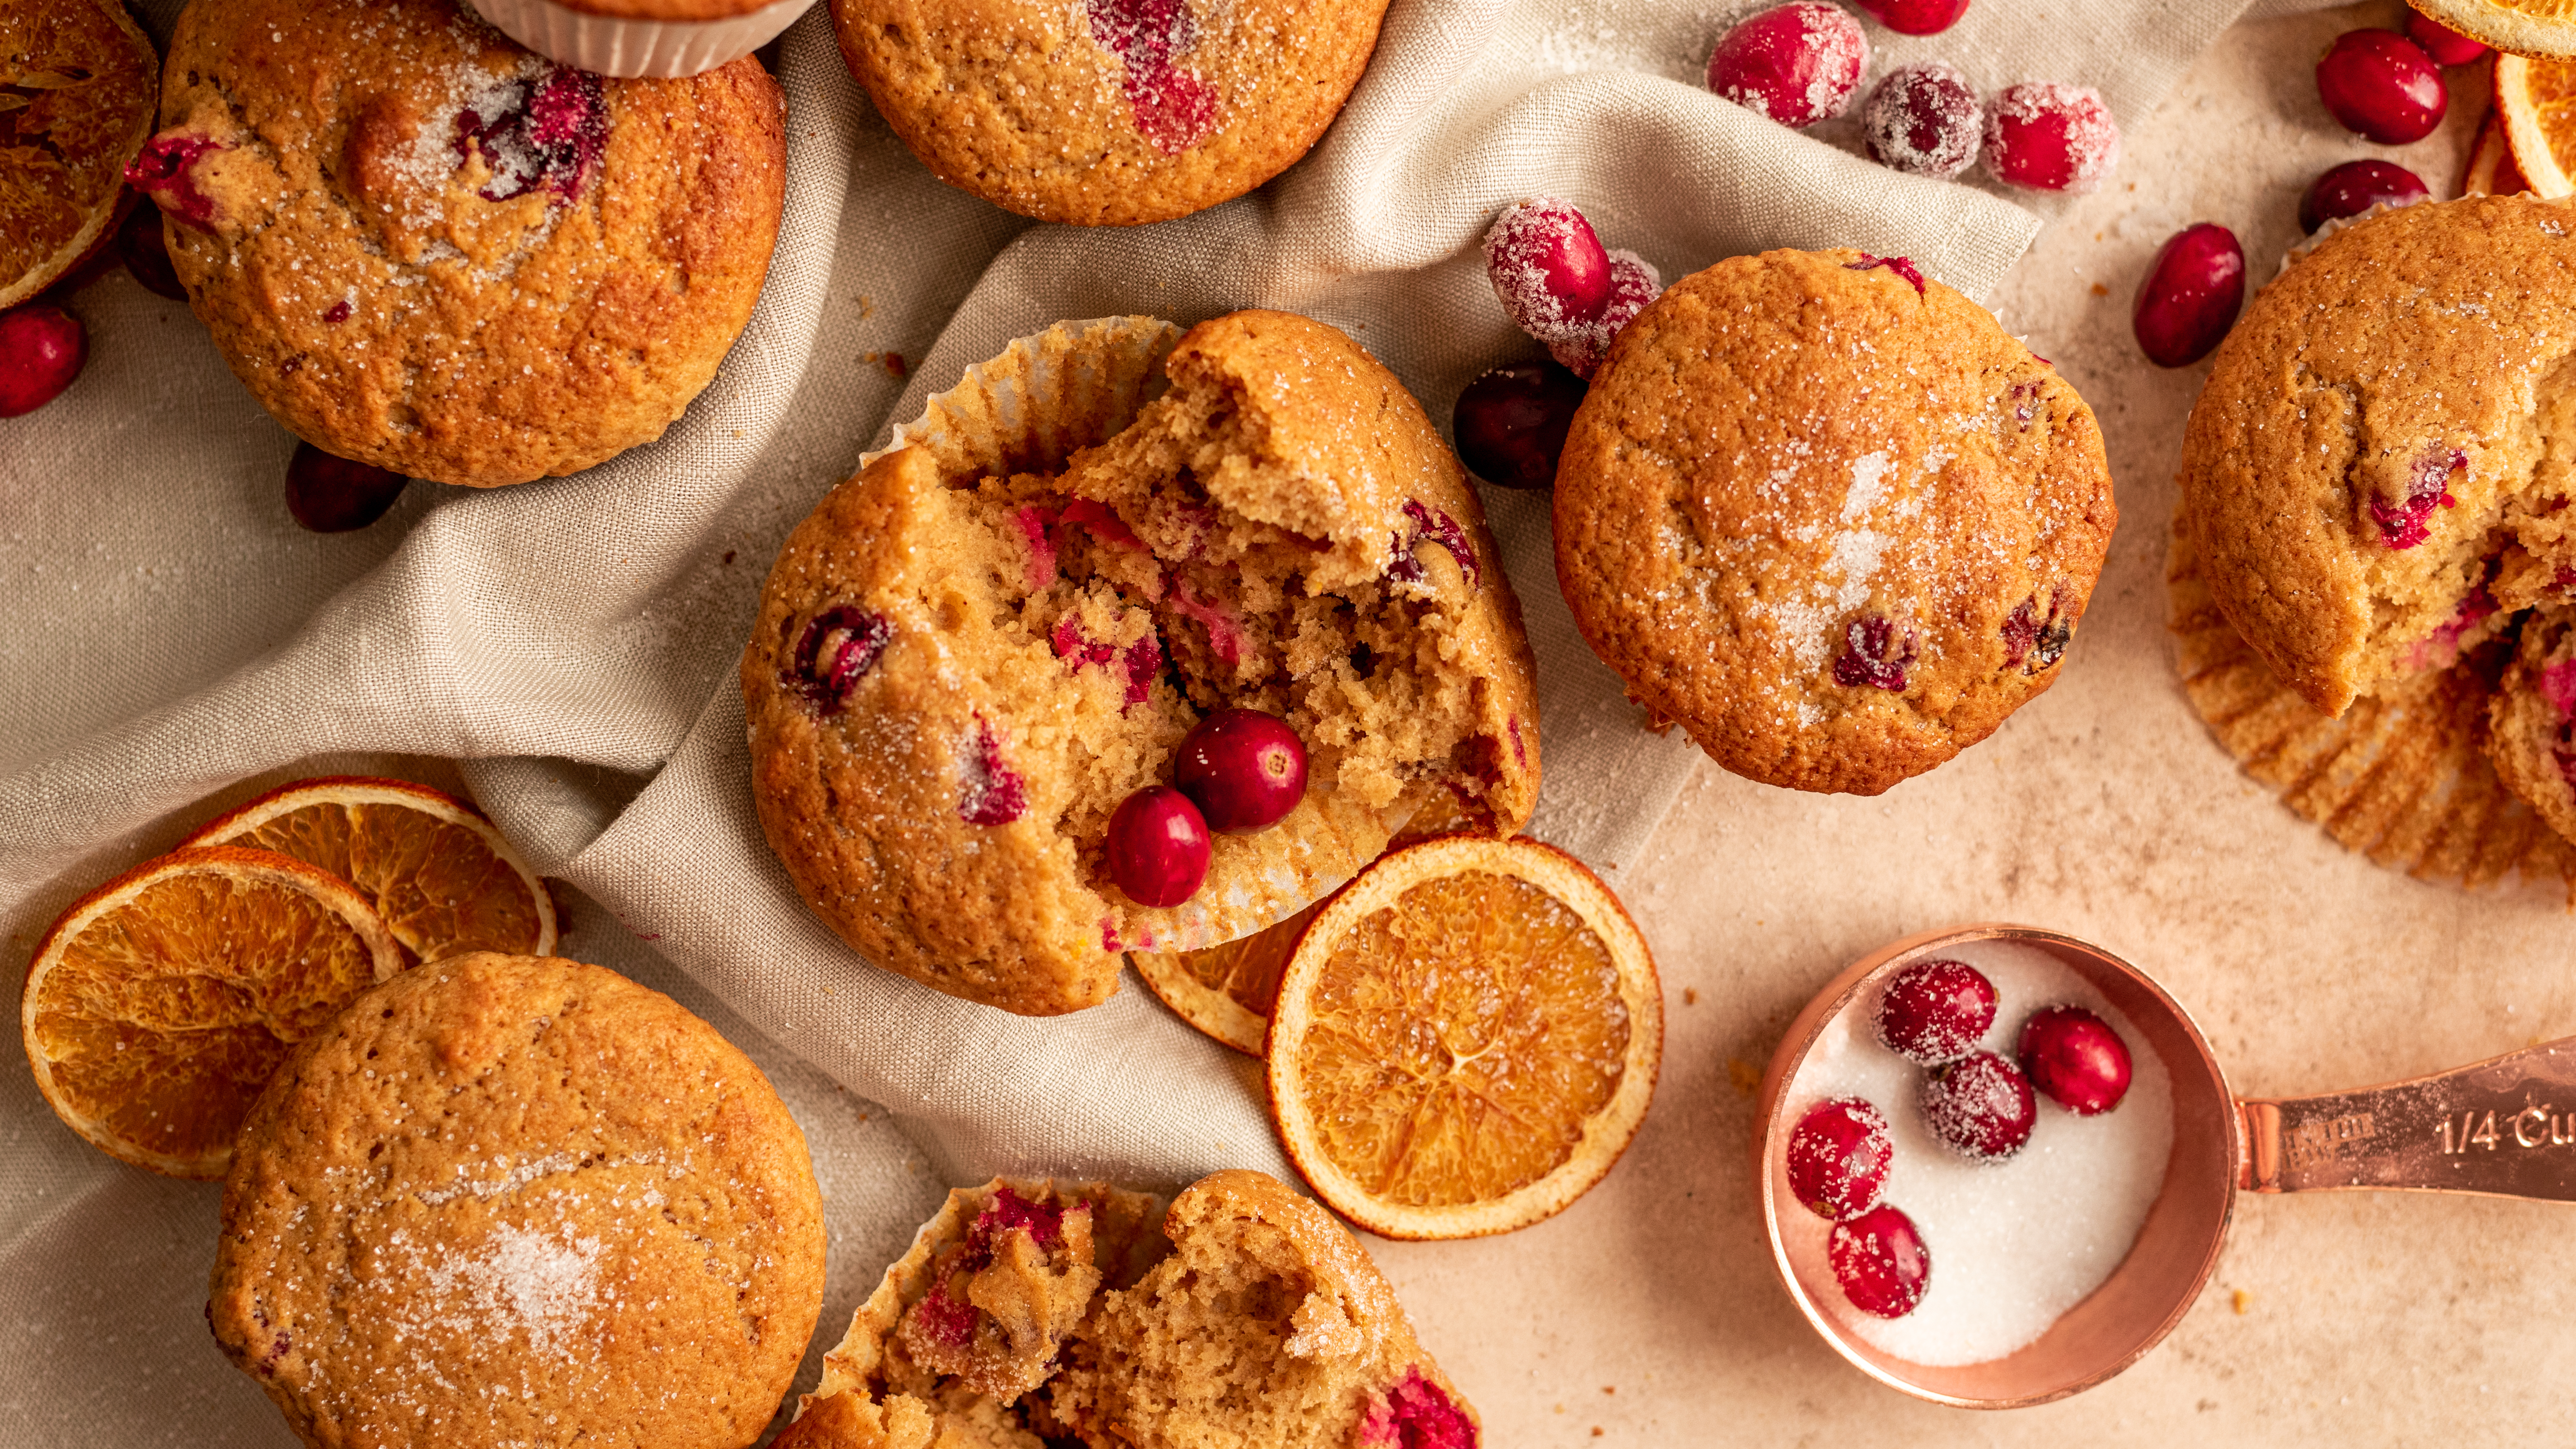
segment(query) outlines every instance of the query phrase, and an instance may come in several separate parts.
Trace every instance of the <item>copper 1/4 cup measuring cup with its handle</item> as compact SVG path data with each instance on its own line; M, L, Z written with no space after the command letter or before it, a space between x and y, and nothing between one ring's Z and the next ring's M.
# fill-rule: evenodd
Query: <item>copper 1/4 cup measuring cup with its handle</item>
M1842 1292L1819 1263L1790 1263L1780 1181L1788 1085L1826 1024L1883 977L1976 941L2040 949L2138 1029L2174 1083L2174 1150L2128 1258L2040 1338L2004 1359L1927 1366L1852 1336L1824 1307ZM2553 1111L2550 1093L2568 1098ZM2138 967L2030 926L1960 926L1906 936L1852 962L1788 1026L1762 1073L1754 1186L1772 1266L1798 1312L1862 1374L1958 1408L2022 1408L2084 1392L2136 1364L2200 1297L2239 1191L2416 1189L2576 1201L2576 1039L2362 1091L2239 1098L2200 1026ZM1795 1212L1795 1207L1793 1207ZM1937 1258L1935 1258L1937 1261Z

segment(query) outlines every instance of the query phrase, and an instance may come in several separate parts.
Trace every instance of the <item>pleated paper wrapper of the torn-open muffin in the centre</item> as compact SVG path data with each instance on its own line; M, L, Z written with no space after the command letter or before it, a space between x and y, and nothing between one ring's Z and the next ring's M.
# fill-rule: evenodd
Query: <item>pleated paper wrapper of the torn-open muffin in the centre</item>
M1164 394L1162 361L1180 343L1180 327L1159 317L1092 317L1015 338L999 356L974 364L948 392L933 394L922 415L894 428L884 449L925 449L940 482L969 487L984 477L1056 472L1077 451L1110 441ZM1409 810L1376 812L1334 792L1306 792L1296 815L1255 841L1303 848L1273 853L1260 871L1236 871L1170 910L1149 910L1110 892L1113 949L1203 951L1249 936L1332 895L1376 859L1381 835L1404 828ZM1226 851L1218 838L1218 851Z

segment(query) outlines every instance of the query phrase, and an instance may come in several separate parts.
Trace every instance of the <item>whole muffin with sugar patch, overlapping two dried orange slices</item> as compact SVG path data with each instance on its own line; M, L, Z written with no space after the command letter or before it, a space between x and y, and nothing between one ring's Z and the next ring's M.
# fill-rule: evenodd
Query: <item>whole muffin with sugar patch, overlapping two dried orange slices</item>
M206 1318L317 1449L739 1449L822 1266L804 1134L742 1052L600 967L471 954L260 1093Z

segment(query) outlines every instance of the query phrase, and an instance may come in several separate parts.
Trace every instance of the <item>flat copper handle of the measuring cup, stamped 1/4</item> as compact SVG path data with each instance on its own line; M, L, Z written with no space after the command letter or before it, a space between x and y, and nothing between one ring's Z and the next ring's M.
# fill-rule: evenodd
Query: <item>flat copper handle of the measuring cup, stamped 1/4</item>
M2416 1189L2576 1201L2576 1036L2365 1091L2244 1098L2246 1191Z

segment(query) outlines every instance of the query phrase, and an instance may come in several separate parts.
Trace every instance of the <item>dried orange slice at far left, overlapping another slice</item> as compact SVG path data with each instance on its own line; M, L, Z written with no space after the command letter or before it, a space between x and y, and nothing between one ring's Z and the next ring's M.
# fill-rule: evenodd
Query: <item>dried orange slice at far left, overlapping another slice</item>
M286 1052L399 969L345 879L273 851L175 851L54 920L18 1026L72 1132L137 1168L219 1178Z

